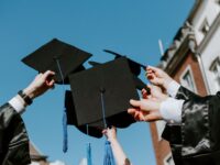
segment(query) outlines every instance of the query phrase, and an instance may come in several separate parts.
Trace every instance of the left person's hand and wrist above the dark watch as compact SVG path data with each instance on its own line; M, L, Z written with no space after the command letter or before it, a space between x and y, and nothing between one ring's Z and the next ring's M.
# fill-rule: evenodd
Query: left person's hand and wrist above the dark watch
M31 99L34 99L45 91L54 87L55 80L52 78L54 72L47 70L44 74L38 74L35 79L23 90Z

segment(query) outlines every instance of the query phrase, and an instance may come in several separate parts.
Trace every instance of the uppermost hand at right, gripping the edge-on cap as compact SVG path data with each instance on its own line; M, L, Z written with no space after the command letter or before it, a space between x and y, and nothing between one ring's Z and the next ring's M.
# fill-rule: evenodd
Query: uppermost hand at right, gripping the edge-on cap
M173 78L168 76L164 70L153 66L146 67L146 78L153 85L161 86L164 89L167 89L169 82L173 80Z

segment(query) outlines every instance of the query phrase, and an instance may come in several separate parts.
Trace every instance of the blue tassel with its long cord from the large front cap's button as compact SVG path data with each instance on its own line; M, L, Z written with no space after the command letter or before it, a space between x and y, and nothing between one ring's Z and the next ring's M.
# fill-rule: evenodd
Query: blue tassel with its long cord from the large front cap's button
M105 123L105 128L107 129L108 125L106 121L106 109L105 109L105 100L103 100L105 89L101 88L100 94L101 94L101 109L102 109L103 123ZM103 165L116 165L112 148L111 148L111 143L108 140L106 140L106 144L105 144Z

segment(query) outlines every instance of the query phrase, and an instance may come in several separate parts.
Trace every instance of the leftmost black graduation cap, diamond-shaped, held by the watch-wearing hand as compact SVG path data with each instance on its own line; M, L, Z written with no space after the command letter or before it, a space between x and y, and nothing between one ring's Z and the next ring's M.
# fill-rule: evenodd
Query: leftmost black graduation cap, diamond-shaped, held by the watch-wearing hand
M40 73L53 70L57 84L68 84L68 75L84 70L82 64L91 54L54 38L22 59Z

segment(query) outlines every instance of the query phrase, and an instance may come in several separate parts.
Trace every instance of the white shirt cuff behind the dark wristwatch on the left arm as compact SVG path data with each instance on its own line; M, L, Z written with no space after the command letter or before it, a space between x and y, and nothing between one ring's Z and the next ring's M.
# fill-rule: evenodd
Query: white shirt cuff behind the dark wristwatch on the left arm
M9 103L14 108L18 113L23 113L25 110L25 102L22 100L20 96L13 97Z

